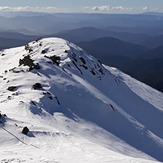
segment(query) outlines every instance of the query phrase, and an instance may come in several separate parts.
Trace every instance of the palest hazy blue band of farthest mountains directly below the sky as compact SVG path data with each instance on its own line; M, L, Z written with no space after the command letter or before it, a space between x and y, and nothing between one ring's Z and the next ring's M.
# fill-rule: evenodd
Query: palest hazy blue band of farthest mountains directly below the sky
M120 26L160 29L163 27L163 16L152 14L42 14L18 12L14 13L13 17L2 15L0 17L0 29L30 29L44 34L54 34L63 30L89 26L96 28ZM6 13L6 15L11 14Z

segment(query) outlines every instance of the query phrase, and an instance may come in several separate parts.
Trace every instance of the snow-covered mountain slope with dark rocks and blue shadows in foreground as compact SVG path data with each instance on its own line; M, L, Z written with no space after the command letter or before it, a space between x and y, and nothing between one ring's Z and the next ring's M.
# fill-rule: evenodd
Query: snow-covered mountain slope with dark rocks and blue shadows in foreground
M163 94L63 39L0 52L0 111L1 163L163 161Z

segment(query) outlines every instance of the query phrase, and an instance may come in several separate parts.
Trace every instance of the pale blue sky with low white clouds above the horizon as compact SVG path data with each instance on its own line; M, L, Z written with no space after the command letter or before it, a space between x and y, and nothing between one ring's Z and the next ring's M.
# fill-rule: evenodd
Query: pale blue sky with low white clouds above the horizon
M163 0L0 0L3 11L163 12Z

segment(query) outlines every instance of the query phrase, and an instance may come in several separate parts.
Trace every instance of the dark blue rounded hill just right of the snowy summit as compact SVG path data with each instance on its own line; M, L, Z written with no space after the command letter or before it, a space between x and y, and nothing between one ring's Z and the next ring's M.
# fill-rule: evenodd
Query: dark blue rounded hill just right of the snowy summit
M112 37L103 37L93 41L79 42L80 47L97 58L128 57L136 58L147 50L146 47L121 41ZM103 60L105 61L105 60Z

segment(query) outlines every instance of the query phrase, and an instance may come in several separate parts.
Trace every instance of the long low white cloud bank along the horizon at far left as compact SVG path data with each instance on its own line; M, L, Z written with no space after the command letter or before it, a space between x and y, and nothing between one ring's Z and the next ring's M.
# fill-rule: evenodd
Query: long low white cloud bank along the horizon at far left
M0 6L0 11L38 11L38 12L55 12L56 7L31 7L31 6Z

